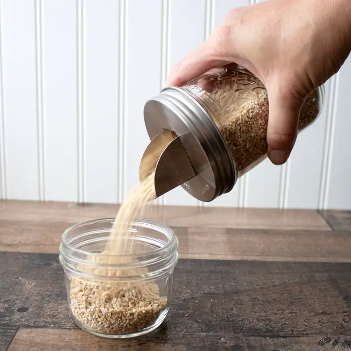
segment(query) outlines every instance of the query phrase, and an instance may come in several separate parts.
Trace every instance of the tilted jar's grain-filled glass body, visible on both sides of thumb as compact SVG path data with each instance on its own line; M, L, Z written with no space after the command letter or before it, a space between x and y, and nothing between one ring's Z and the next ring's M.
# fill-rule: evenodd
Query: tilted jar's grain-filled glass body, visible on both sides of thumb
M182 87L215 122L232 157L236 177L267 157L269 104L264 84L251 72L231 64L213 69ZM324 87L306 99L298 131L309 126L323 107Z

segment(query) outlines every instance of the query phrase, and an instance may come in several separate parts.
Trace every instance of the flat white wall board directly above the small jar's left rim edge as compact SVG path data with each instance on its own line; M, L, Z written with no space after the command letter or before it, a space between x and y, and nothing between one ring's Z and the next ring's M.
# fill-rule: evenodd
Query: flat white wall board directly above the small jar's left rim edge
M39 193L46 201L82 201L78 196L77 10L77 1L37 1Z

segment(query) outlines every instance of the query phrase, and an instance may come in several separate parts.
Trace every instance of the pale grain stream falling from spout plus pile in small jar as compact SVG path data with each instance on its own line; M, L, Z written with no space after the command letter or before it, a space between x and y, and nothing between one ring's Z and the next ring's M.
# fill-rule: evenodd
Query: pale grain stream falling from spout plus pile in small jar
M156 198L154 177L151 173L125 199L105 250L89 257L89 262L95 265L78 266L80 272L89 276L71 280L71 311L85 329L110 335L136 333L155 323L167 307L167 297L160 296L158 285L144 282L148 269L138 267L130 256L136 253L130 222L141 217L149 202ZM111 265L131 268L115 269Z

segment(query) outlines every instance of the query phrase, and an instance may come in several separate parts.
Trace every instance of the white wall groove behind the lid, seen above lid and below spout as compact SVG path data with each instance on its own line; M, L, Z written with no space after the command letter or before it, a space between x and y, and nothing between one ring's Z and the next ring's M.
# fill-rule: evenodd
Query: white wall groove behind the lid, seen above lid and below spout
M162 0L162 28L161 28L161 79L160 90L163 88L169 72L169 21L170 21L169 0ZM159 205L167 204L167 194L156 200Z

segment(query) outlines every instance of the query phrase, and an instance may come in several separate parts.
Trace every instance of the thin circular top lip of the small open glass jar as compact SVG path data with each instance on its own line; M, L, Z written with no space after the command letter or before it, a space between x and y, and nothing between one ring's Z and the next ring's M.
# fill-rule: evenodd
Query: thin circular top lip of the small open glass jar
M100 219L94 219L94 220L89 220L89 221L85 221L85 222L81 222L81 223L77 223L71 227L69 227L68 229L66 229L64 231L64 233L62 234L62 241L60 244L60 254L64 254L64 252L67 252L67 250L71 251L70 255L75 255L75 254L83 254L86 255L86 257L90 257L90 256L94 256L97 253L94 252L89 252L83 249L79 249L74 247L73 245L70 245L69 241L68 241L68 234L71 233L72 231L74 231L75 229L78 229L79 227L83 227L83 226L87 226L89 224L94 224L94 223L111 223L113 224L115 222L115 218L100 218ZM149 220L140 220L140 221L132 221L130 222L131 226L140 226L140 227L144 227L144 228L148 228L148 229L152 229L152 230L156 230L160 233L163 234L168 234L167 237L169 237L169 242L166 243L164 246L161 246L159 248L157 248L156 250L153 250L149 253L143 253L142 256L144 258L148 258L151 257L155 254L161 254L162 252L169 252L172 249L176 250L177 246L178 246L178 239L176 237L176 234L174 233L174 231L163 224L154 222L154 221L149 221ZM140 254L123 254L123 255L116 255L116 254L102 254L99 253L99 256L104 256L104 257L128 257L128 258L133 258L133 257L138 257L140 256Z

